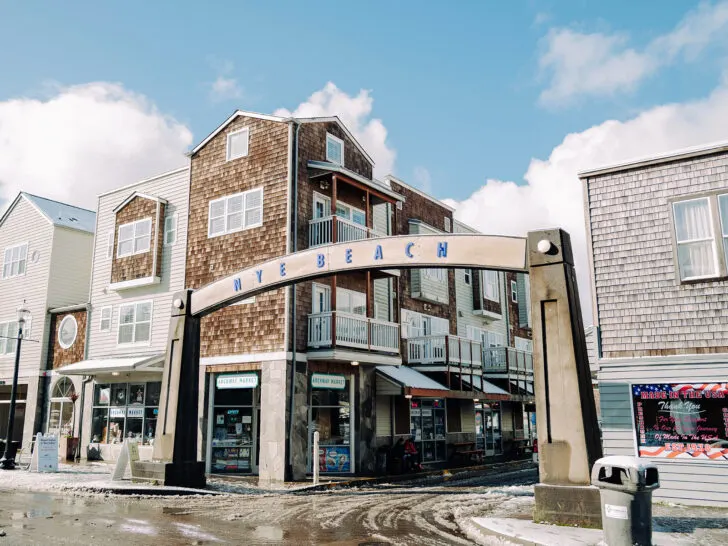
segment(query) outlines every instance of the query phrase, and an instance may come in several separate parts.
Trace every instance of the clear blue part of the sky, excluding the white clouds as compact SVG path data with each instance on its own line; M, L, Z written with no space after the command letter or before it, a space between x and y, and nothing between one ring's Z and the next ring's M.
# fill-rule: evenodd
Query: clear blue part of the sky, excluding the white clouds
M634 47L670 31L688 4L661 2L3 2L0 100L44 84L119 82L199 141L234 108L295 108L327 82L368 89L395 170L464 199L486 178L521 181L567 133L706 94L716 59L678 66L620 96L547 107L539 58L556 28L618 32ZM224 65L228 65L225 74ZM211 100L210 82L241 93Z

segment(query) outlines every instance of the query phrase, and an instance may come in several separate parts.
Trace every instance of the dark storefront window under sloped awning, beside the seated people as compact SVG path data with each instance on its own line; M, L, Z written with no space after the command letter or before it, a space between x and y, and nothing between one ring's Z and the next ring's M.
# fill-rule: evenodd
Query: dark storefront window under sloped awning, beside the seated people
M446 460L445 401L413 398L410 401L410 434L415 439L422 462Z

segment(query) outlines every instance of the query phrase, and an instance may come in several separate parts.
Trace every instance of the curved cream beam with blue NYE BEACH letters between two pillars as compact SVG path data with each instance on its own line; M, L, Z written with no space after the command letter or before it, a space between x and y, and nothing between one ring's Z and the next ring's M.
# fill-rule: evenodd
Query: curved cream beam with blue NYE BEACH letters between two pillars
M493 235L413 235L350 241L280 256L192 293L202 316L261 292L350 271L412 268L526 271L526 239Z

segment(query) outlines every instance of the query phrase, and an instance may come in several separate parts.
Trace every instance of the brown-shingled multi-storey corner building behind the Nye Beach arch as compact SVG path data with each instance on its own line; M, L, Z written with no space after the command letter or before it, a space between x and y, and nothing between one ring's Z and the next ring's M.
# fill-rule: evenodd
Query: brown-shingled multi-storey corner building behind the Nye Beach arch
M186 286L316 246L453 231L452 209L393 177L375 180L373 166L336 117L235 112L190 153ZM500 294L505 275L496 278ZM480 331L457 336L455 283L444 269L347 273L205 317L199 432L208 472L283 480L319 464L370 474L378 447L410 435L425 463L450 460L458 446L474 451L464 448L478 441L476 404L482 412L514 398L485 380ZM521 360L523 405L533 370ZM523 436L518 415L509 422Z

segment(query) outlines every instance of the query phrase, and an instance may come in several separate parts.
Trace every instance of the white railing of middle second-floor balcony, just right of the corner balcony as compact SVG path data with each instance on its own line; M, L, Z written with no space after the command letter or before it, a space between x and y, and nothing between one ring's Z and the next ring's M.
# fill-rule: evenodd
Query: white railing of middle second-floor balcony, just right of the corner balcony
M460 336L438 335L407 339L409 364L457 364L480 368L483 365L483 345Z

